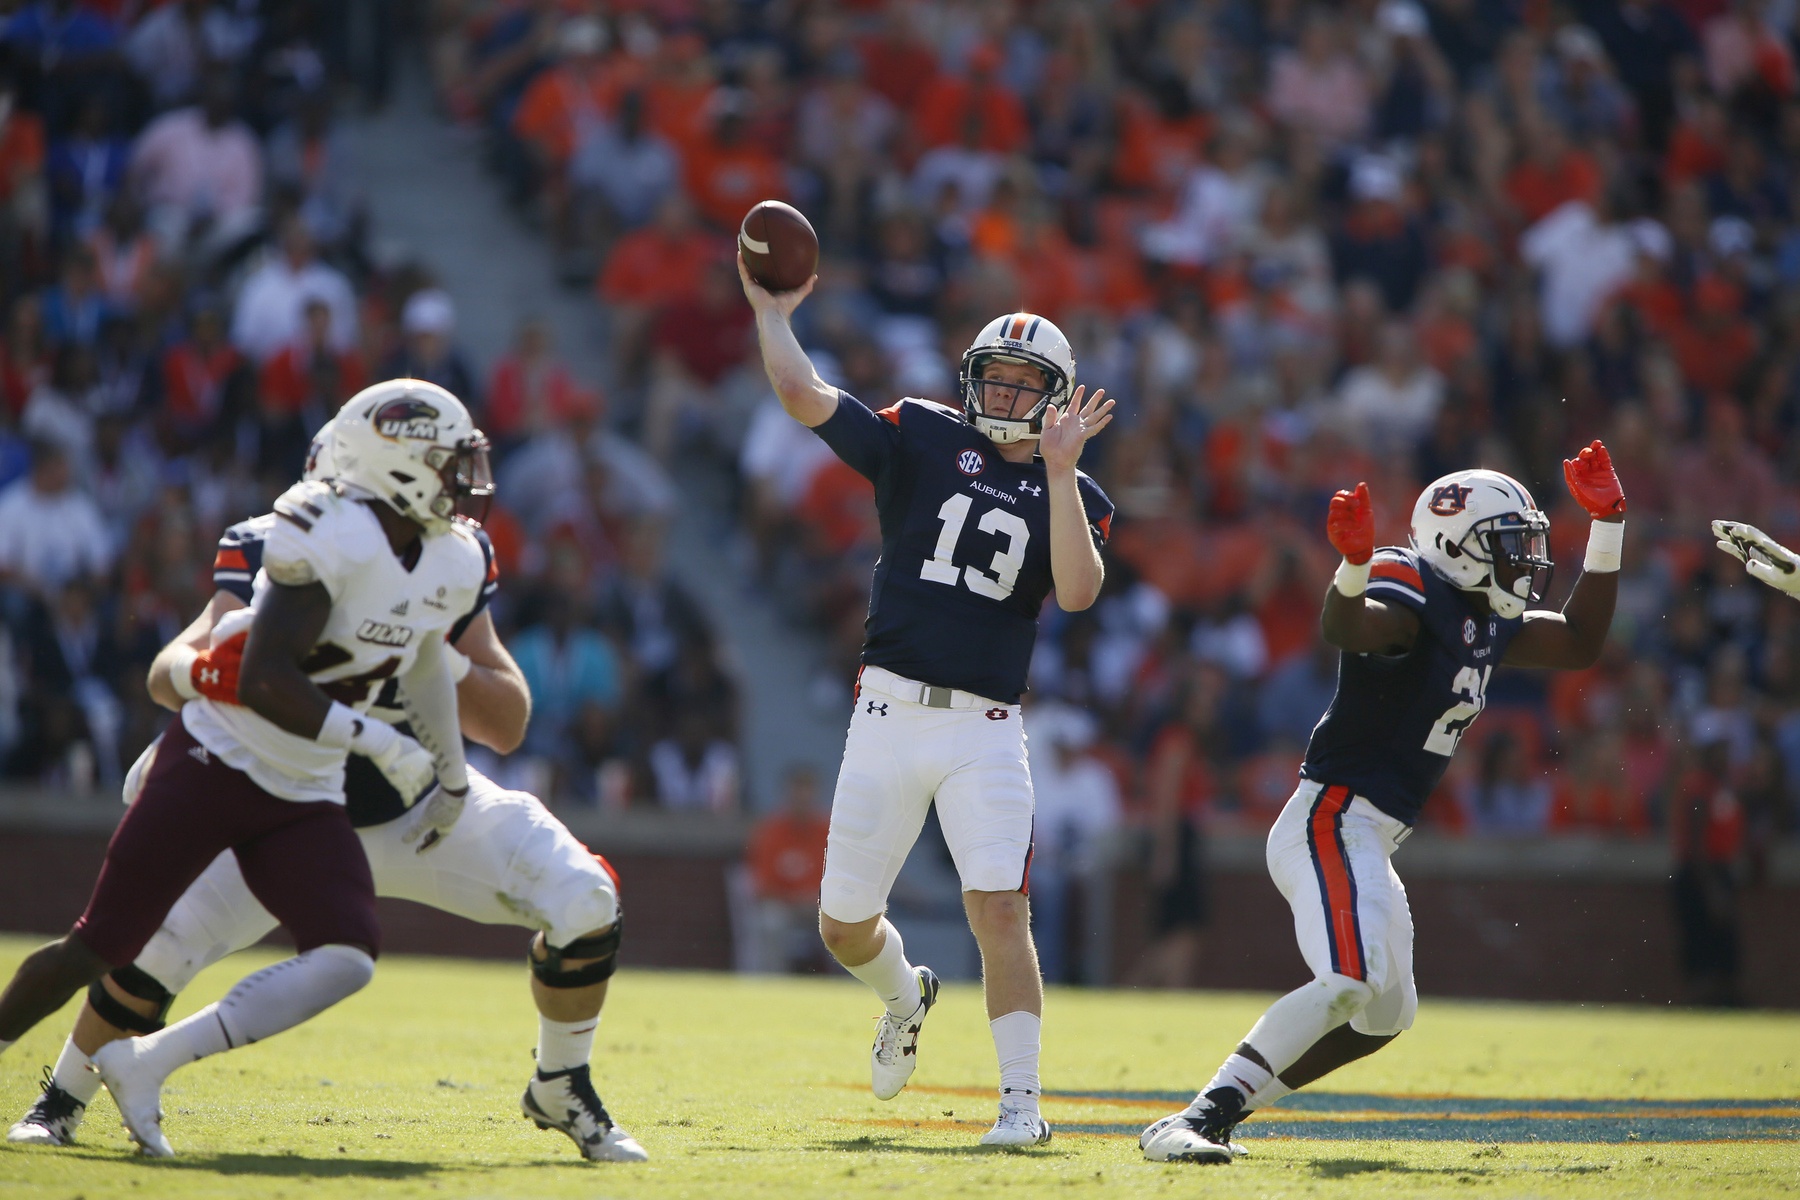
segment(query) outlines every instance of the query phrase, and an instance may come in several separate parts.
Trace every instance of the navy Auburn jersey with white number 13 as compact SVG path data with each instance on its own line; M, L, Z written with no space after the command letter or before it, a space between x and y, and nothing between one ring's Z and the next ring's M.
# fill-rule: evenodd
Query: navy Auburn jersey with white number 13
M1017 703L1053 583L1044 461L1008 462L959 412L922 399L869 412L839 392L814 432L875 484L882 558L862 662ZM1076 480L1094 545L1105 545L1112 502Z

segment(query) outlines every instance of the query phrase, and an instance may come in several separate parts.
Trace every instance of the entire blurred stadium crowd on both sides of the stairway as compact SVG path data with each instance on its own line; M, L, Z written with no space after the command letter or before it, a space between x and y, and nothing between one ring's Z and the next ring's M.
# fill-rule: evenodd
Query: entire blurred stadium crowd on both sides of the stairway
M1586 520L1559 464L1604 437L1631 502L1613 646L1496 676L1426 820L1753 867L1800 824L1800 612L1706 520L1800 536L1796 7L13 5L5 770L130 761L139 671L209 594L221 522L358 380L412 371L502 452L533 770L733 808L734 687L662 565L670 466L733 480L747 567L830 639L821 700L877 552L868 486L774 405L738 295L738 218L783 196L824 246L803 344L864 403L954 403L961 349L1015 308L1121 399L1085 462L1120 506L1107 592L1046 610L1033 666L1040 790L1075 797L1040 822L1051 856L1157 831L1159 919L1201 919L1201 837L1273 820L1330 698L1330 491L1366 479L1404 542L1426 480L1510 471L1552 513L1561 597ZM371 257L331 112L382 103L409 31L445 117L592 281L608 396L529 320L477 371L428 272Z

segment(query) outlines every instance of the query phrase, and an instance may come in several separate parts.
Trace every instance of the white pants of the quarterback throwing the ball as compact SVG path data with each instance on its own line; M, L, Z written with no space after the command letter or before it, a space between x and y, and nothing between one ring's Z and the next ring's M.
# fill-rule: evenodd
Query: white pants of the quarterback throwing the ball
M850 718L819 910L844 923L878 916L934 799L963 891L1022 891L1033 801L1019 705L931 709L882 675L862 673Z

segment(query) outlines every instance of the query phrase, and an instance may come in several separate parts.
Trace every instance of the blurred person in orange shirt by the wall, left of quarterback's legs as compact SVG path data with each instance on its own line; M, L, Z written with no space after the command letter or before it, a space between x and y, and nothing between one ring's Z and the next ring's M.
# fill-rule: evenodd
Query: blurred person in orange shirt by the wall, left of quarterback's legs
M781 806L756 822L743 851L751 880L747 970L787 973L819 964L819 883L828 831L817 772L790 766Z

